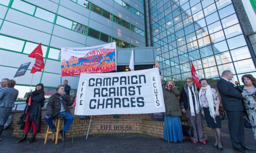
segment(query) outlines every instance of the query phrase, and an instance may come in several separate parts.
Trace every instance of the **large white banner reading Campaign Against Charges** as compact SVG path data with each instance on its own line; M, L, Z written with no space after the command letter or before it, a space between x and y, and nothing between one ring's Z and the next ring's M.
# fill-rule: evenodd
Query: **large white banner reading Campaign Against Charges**
M75 115L165 112L159 69L81 74Z

